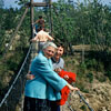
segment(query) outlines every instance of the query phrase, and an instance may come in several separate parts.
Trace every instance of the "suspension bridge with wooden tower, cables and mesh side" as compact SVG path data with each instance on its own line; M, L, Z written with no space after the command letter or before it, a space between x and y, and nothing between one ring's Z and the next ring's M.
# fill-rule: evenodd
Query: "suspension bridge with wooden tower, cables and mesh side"
M9 47L7 48L7 50L3 53L4 58L7 56L7 52L10 49L10 46L16 40L14 37L16 37L17 32L19 31L29 9L30 9L30 22L31 22L30 39L34 37L33 36L33 7L48 7L49 8L49 10L50 10L50 18L49 18L50 22L49 23L50 23L50 30L51 30L51 34L52 34L53 26L52 26L52 19L51 19L52 18L51 9L52 8L54 9L57 16L58 16L58 12L57 12L56 8L52 6L51 0L49 0L48 2L33 2L33 0L30 0L30 2L26 3L26 11L22 14L21 20L18 23L18 26L12 34L12 38L9 42ZM58 18L59 18L59 16L58 16ZM18 71L18 74L16 75L9 90L7 91L7 93L4 94L2 100L0 101L0 111L23 111L23 91L24 91L24 83L26 83L26 74L29 71L31 59L34 58L34 56L36 56L36 50L37 50L36 46L30 43L28 53L24 58L24 61L22 62L20 70ZM87 107L89 108L89 111L93 111L93 109L89 105L89 103L85 101L85 99L80 93L80 91L78 91L77 94L80 97L80 99L83 101L83 103L87 104ZM68 102L67 102L67 107L68 107L69 111L75 111L74 109L71 108L71 105ZM18 109L18 110L16 110L16 109ZM62 109L62 111L63 111L63 109Z

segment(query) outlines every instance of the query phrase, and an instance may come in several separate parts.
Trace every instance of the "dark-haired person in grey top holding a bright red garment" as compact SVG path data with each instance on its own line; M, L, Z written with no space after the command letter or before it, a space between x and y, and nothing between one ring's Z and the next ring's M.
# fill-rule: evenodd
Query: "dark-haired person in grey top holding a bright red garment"
M56 54L51 58L52 64L53 64L53 70L64 80L67 80L69 83L75 82L75 73L73 72L67 72L64 71L64 60L61 58L63 54L63 46L59 44L57 46L57 52ZM65 101L68 100L68 95L70 93L70 90L68 87L64 87L61 90L61 100L51 102L51 110L52 111L60 111L60 105L63 105Z

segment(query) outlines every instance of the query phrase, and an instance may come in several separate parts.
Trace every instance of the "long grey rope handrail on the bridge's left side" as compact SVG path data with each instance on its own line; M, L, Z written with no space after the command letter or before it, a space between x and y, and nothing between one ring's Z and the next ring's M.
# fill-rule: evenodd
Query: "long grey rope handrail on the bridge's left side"
M18 78L19 78L19 75L20 75L20 73L21 73L21 71L22 71L22 69L23 69L23 67L24 67L24 64L26 64L26 62L27 62L27 60L28 60L28 57L29 57L29 54L30 54L30 52L31 52L31 47L32 47L32 46L30 46L29 51L28 51L28 53L27 53L27 57L26 57L26 59L24 59L24 61L23 61L23 63L22 63L22 65L21 65L19 72L18 72L18 74L17 74L14 81L12 82L12 84L11 84L11 87L9 88L8 92L6 93L4 98L3 98L2 101L0 102L0 108L1 108L2 104L4 103L6 99L8 98L9 93L11 92L11 90L12 90L14 83L17 82L17 80L18 80Z

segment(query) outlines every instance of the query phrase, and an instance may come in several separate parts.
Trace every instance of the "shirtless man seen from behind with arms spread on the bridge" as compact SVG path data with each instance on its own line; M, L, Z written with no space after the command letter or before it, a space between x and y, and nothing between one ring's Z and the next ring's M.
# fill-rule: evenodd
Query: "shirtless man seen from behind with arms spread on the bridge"
M42 47L47 41L52 41L52 40L54 39L51 36L49 36L49 33L46 32L43 29L40 30L33 39L31 39L32 42L36 42L36 41L39 42L38 52L42 50Z

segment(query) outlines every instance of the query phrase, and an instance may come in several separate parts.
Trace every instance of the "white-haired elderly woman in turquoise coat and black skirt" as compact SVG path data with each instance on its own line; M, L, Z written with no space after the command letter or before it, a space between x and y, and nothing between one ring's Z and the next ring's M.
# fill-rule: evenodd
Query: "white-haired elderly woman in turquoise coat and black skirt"
M50 102L61 99L62 88L68 85L70 90L78 90L53 71L50 58L53 57L56 49L54 43L47 42L32 61L30 72L34 79L26 83L23 111L51 111Z

